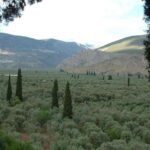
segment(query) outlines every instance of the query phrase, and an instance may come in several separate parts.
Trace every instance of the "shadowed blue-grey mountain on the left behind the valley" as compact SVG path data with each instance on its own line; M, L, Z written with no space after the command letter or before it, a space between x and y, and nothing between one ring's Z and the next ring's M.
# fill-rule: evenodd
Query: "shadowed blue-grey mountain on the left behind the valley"
M55 68L64 59L85 49L84 45L75 42L36 40L0 33L0 68Z

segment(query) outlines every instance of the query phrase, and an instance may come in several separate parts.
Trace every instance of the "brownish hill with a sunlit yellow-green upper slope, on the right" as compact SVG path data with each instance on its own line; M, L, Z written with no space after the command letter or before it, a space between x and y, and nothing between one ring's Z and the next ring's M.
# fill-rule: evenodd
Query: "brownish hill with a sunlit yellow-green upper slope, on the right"
M93 51L75 54L57 68L85 73L146 73L143 40L145 35L131 36L109 43Z

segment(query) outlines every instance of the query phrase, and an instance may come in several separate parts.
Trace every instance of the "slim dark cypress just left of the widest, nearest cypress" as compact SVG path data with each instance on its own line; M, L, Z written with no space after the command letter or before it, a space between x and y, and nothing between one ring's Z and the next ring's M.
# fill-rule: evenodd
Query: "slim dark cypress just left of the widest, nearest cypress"
M54 86L52 89L52 108L59 107L58 104L58 82L57 79L54 80Z

